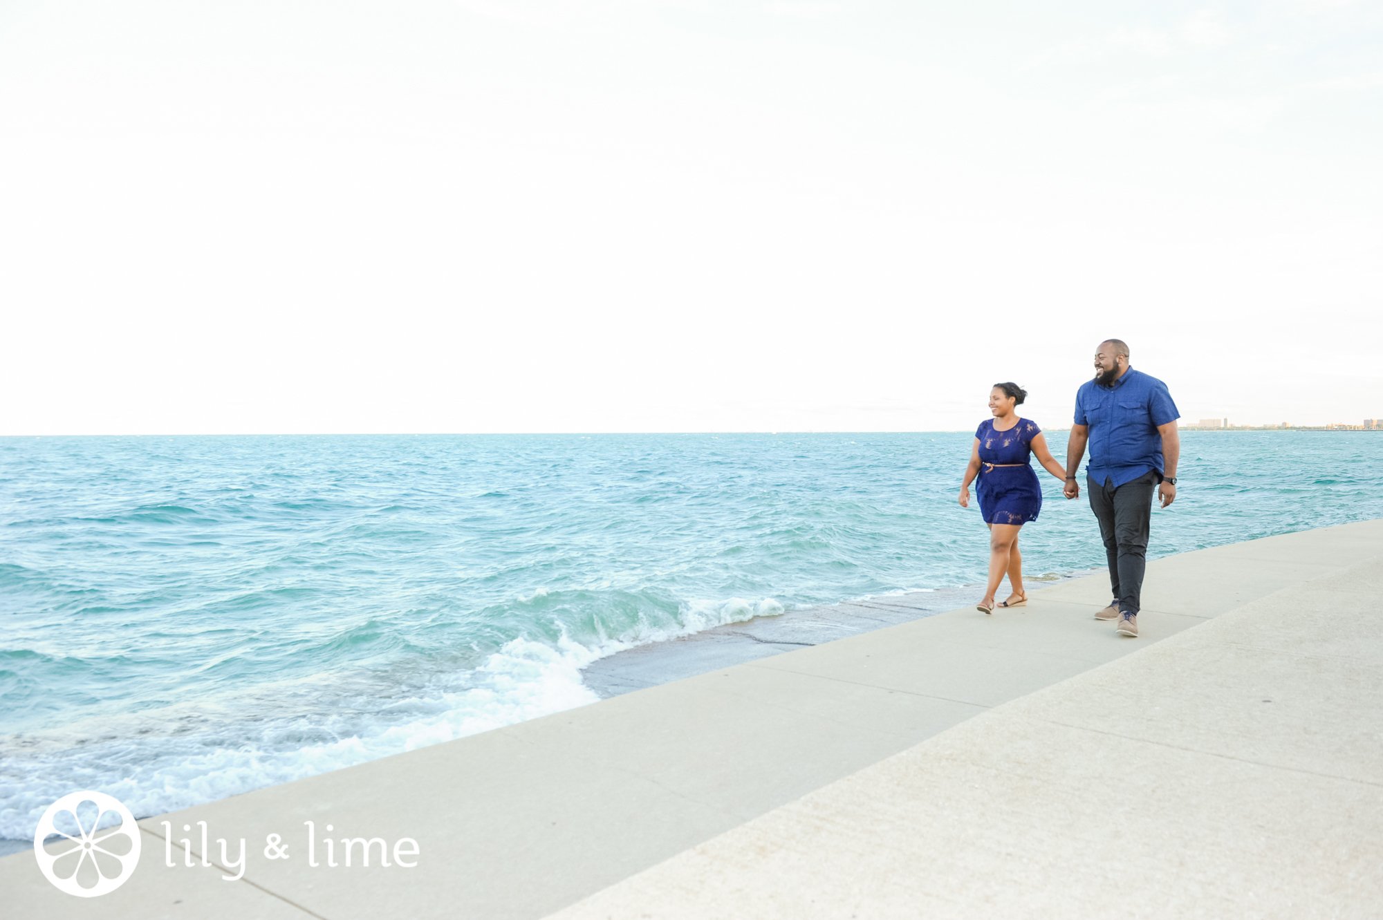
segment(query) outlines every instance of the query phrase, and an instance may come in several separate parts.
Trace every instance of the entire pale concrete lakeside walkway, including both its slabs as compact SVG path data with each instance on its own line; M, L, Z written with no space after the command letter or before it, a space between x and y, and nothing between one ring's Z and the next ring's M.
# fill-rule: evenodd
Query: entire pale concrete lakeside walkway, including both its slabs
M32 854L0 892L46 917L1379 916L1379 572L1383 521L1170 557L1138 640L1077 579L145 819L98 901ZM248 840L242 880L181 865L201 821ZM308 868L304 821L411 837L418 866Z

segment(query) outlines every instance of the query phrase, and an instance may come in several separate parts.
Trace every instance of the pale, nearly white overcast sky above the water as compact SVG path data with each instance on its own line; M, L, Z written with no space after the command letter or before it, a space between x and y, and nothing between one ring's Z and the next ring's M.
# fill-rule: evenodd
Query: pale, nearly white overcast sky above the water
M0 435L1383 417L1383 4L0 0Z

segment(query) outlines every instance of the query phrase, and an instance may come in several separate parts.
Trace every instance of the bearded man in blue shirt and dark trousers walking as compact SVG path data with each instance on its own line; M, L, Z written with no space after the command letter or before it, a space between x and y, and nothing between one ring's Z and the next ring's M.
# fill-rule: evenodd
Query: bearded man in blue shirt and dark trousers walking
M1129 345L1117 338L1099 343L1095 378L1076 391L1065 495L1080 495L1076 470L1088 441L1086 488L1105 542L1115 598L1095 619L1119 620L1119 635L1138 635L1152 490L1156 486L1162 507L1177 499L1178 416L1167 384L1129 365Z

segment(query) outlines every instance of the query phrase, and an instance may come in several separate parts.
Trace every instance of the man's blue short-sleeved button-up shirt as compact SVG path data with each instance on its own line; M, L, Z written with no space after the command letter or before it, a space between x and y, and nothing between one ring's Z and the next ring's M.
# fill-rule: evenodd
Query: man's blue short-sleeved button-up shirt
M1152 470L1160 477L1164 467L1158 425L1180 414L1167 384L1133 367L1113 387L1087 381L1076 391L1076 424L1090 427L1086 472L1113 488Z

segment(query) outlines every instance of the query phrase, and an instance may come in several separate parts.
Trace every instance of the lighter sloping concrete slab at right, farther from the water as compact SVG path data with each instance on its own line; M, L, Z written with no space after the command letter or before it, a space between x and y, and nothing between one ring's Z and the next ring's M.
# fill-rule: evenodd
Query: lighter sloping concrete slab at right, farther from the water
M1140 620L1235 606L555 916L1380 917L1380 522L1166 559Z

